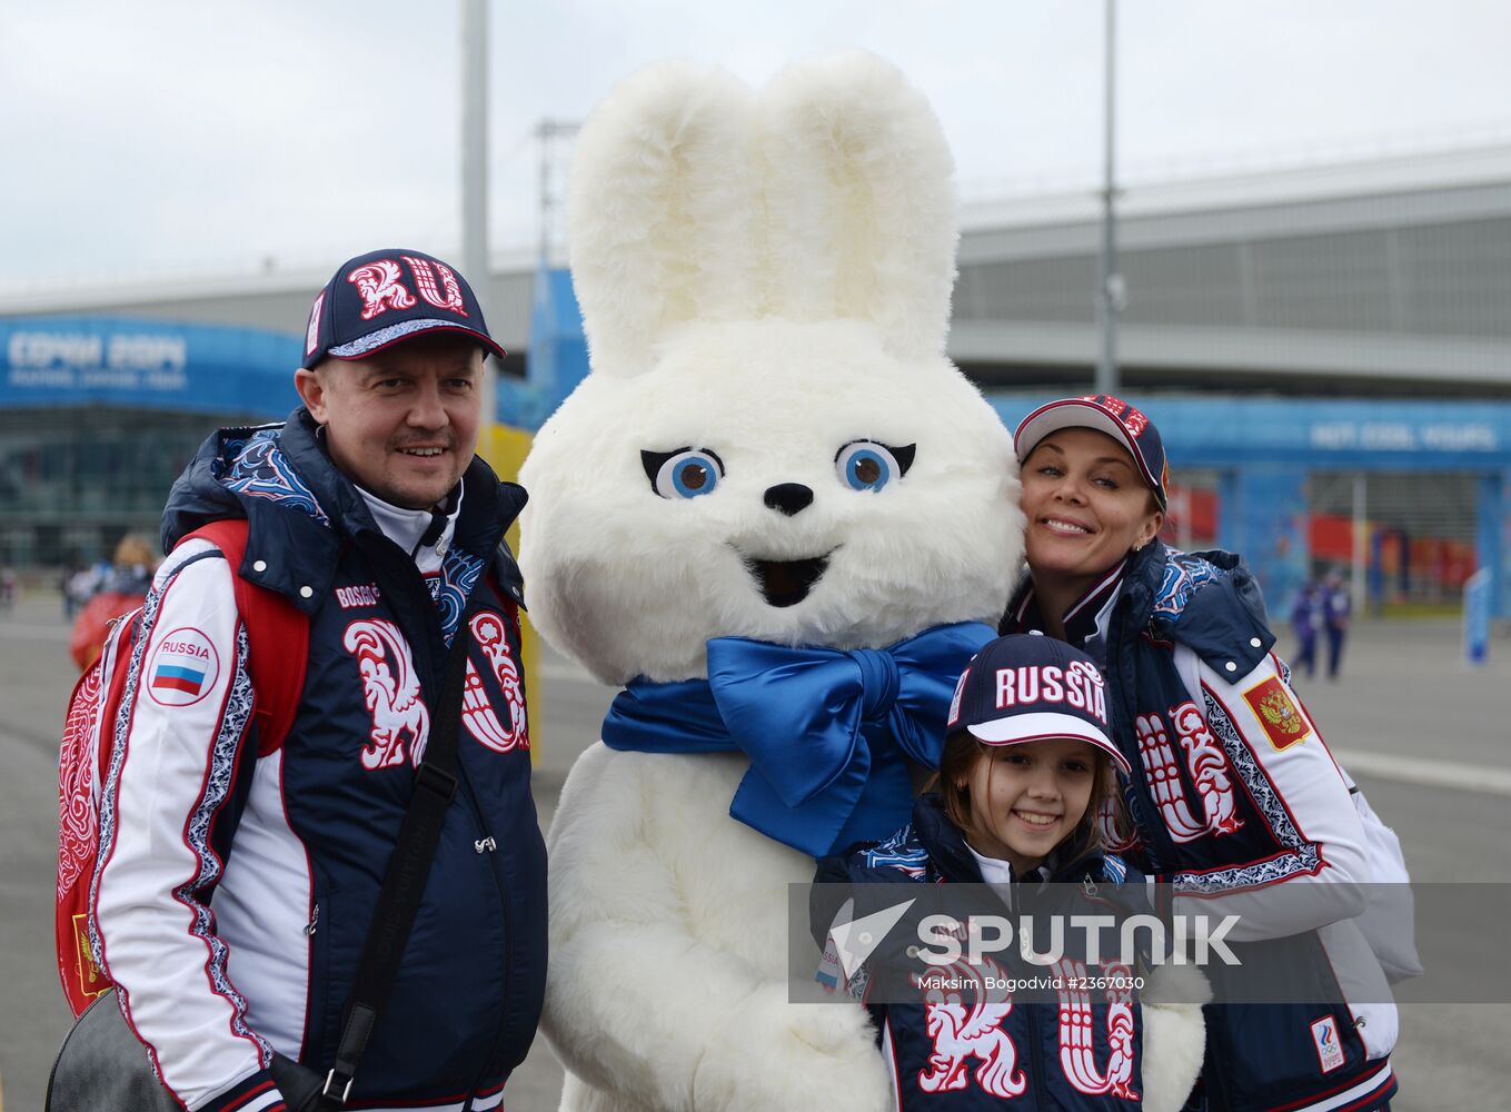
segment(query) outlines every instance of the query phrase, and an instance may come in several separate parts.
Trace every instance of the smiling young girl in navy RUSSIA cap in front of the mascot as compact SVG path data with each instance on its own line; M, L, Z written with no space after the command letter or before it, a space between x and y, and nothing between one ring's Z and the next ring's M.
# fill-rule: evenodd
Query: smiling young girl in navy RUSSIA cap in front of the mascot
M1108 734L1106 692L1091 657L1044 636L988 644L959 678L947 731L938 790L917 801L913 822L879 845L820 863L820 881L1009 885L997 890L997 902L972 905L979 914L1000 913L1003 897L1009 914L1023 911L1046 882L1077 885L1095 899L1082 911L1141 907L1141 878L1100 843L1097 804L1109 798L1111 766L1126 774L1127 763ZM1126 899L1097 897L1109 885ZM914 929L910 920L907 931ZM834 979L842 932L831 932L827 947ZM925 965L917 993L904 1002L888 1002L891 991L867 996L867 973L849 970L846 988L876 1020L899 1109L1003 1100L1035 1109L1180 1107L1201 1062L1200 1003L1162 1008L1153 1020L1132 987L1133 975L1147 970L1103 959L1089 971L1108 987L1077 985L1085 964L1035 967L1017 950L1012 944L978 962L967 950L934 971ZM1002 988L1035 975L1065 982L1052 1002L1014 1000ZM820 971L820 979L828 978ZM1157 1062L1148 1058L1151 1024Z

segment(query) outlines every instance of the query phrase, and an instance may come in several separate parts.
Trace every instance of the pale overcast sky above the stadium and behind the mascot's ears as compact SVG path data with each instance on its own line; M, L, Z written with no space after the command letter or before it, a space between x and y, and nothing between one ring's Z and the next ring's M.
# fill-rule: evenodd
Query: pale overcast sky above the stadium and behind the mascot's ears
M1102 0L494 0L491 246L542 118L672 56L762 82L866 47L966 196L1091 186ZM1505 0L1120 0L1118 160L1159 180L1511 144ZM0 292L456 255L461 0L0 0Z

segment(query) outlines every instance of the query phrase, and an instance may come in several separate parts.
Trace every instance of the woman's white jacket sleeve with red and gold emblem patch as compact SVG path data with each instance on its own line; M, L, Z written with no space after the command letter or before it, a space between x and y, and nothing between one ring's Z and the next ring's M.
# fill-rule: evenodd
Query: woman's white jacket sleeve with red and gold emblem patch
M1281 938L1351 919L1370 879L1364 829L1316 724L1268 653L1245 675L1176 647L1176 666L1253 799L1271 852L1234 869L1177 872L1176 911L1239 916L1227 937Z

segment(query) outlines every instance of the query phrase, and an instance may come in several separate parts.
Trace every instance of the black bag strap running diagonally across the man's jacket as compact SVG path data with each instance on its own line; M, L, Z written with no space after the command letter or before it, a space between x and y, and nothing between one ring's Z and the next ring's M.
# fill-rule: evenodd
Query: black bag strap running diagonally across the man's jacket
M441 823L456 795L456 736L461 730L462 689L467 678L467 613L479 594L480 591L473 592L456 622L455 641L446 662L441 701L431 716L431 736L420 768L414 774L414 795L403 814L388 872L378 891L373 922L367 928L367 940L357 961L357 975L352 978L352 991L341 1021L341 1038L335 1047L335 1065L322 1086L325 1100L335 1101L337 1106L346 1104L357 1067L361 1065L378 1017L388 1003L403 949L409 941L409 929L420 908L420 896L425 893L425 881L435 860Z

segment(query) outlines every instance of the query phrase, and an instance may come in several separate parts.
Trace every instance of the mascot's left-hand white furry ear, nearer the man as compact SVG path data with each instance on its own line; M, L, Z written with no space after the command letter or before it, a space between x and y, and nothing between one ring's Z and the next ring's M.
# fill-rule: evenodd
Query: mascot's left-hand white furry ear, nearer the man
M760 299L754 94L686 62L644 70L582 128L567 221L592 367L635 375L678 323Z

